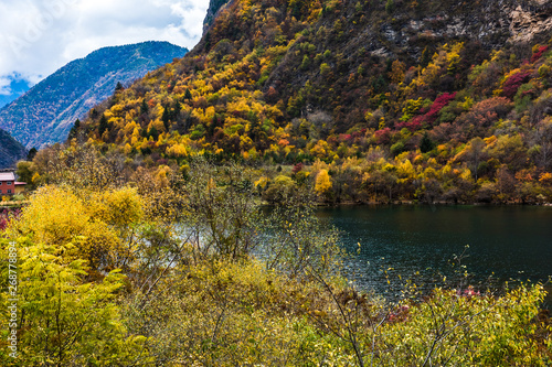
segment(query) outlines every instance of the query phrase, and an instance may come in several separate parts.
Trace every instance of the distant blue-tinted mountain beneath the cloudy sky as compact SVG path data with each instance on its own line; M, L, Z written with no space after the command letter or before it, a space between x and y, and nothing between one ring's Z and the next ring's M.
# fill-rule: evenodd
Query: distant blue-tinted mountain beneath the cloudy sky
M28 148L61 142L76 119L124 86L188 50L168 42L105 47L65 65L0 110L0 128Z

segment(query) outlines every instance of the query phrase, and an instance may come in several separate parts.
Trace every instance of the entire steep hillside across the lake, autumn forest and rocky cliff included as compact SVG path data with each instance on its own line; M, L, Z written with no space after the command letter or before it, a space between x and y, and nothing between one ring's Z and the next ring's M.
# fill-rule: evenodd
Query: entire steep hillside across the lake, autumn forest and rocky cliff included
M330 202L546 201L551 11L233 1L190 55L96 107L81 140L147 164L317 162L306 174L329 174Z

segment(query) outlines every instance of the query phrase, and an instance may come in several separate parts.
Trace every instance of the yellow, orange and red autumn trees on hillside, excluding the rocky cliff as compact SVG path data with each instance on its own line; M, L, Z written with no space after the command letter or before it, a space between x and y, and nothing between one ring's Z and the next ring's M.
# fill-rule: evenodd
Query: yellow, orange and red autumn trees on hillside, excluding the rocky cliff
M517 48L489 53L471 41L433 44L421 60L378 56L360 46L343 52L348 34L369 26L367 11L388 17L384 8L373 2L359 3L354 11L335 1L232 2L194 51L117 90L88 114L72 139L123 153L128 170L180 171L204 156L219 163L300 163L316 174L309 168L320 160L331 166L332 182L320 198L332 202L384 201L378 188L360 184L372 171L364 166L381 158L391 165L408 160L417 175L429 168L458 175L469 169L474 180L458 186L448 173L434 175L435 185L421 179L391 184L389 179L388 201L477 202L486 196L478 191L496 183L507 163L514 177L518 170L529 170L534 184L529 188L517 182L519 188L507 195L491 192L491 202L550 201L550 187L538 181L552 171L550 143L538 132L548 123L548 45L522 54ZM354 22L344 20L346 10ZM300 77L290 77L295 72ZM523 158L497 153L493 141L503 136L521 138ZM475 168L455 159L477 137L486 139L485 160ZM362 159L359 168L338 177L354 158ZM523 164L508 163L523 159ZM44 156L39 161L45 162ZM36 182L49 181L38 173ZM342 180L350 181L346 191L337 184ZM316 175L308 181L315 187ZM278 185L290 187L280 177L266 190ZM344 194L350 187L357 194Z

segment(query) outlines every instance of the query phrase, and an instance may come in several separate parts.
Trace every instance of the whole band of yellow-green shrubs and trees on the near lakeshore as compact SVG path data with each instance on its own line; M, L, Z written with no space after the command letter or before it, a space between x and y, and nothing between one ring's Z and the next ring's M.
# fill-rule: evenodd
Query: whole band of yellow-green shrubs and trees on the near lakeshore
M20 282L19 356L2 328L2 366L552 363L541 284L497 295L460 277L431 294L413 282L394 301L363 294L339 276L346 253L308 187L267 213L251 169L194 159L127 176L93 148L60 153L0 233L4 325L10 246Z

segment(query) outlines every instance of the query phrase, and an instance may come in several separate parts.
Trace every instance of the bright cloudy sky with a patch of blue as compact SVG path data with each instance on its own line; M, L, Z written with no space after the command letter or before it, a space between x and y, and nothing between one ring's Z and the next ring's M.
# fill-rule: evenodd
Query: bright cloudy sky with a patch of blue
M0 0L0 95L105 46L168 41L191 50L209 0Z

